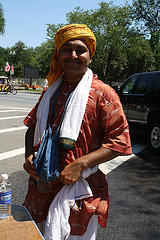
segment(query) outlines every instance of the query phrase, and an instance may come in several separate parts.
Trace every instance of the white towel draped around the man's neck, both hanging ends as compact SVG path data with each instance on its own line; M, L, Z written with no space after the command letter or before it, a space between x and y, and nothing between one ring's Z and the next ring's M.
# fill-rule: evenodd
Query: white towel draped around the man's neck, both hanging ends
M68 103L60 129L60 138L72 139L74 141L77 140L87 105L92 79L93 73L88 68L85 75L75 88ZM36 115L37 122L34 134L34 146L37 146L44 136L47 126L50 100L62 81L63 78L60 77L53 82L52 85L46 90L39 103Z

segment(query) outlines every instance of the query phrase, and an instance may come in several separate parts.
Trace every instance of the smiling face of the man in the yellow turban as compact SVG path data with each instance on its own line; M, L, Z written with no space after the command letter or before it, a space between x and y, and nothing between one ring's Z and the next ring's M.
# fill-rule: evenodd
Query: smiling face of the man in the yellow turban
M83 40L73 39L65 42L58 53L59 64L66 80L81 80L91 62L90 51Z

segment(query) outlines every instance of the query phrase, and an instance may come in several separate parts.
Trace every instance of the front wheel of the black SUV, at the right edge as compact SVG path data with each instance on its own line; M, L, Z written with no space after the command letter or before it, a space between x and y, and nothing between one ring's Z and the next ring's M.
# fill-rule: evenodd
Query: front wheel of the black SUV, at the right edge
M154 153L160 153L160 121L154 121L149 126L148 143Z

